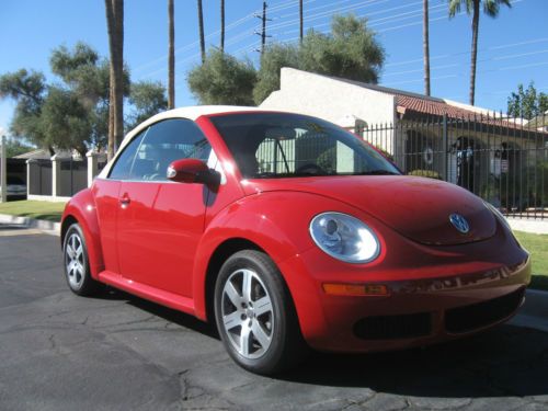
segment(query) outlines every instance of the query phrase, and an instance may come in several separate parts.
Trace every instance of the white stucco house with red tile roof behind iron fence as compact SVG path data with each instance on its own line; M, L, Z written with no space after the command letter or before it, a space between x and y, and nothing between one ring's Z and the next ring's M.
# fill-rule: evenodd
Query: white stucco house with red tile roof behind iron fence
M487 109L293 68L282 69L281 89L261 109L326 118L386 150L403 171L435 172L494 203L501 175L533 165L523 153L547 141Z

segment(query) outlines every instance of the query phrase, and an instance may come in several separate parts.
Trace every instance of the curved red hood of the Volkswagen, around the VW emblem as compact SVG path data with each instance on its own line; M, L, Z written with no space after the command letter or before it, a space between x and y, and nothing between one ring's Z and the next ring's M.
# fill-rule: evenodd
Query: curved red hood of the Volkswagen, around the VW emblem
M433 179L404 175L345 175L247 180L248 195L297 191L331 197L381 220L401 235L424 244L461 244L492 237L493 214L470 192ZM469 225L459 232L449 221L459 214Z

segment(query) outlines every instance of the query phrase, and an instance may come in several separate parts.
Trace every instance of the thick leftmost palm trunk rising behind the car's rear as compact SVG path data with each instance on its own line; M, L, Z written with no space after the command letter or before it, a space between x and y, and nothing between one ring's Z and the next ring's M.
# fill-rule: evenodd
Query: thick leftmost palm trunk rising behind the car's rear
M124 135L124 0L105 0L110 48L109 160Z

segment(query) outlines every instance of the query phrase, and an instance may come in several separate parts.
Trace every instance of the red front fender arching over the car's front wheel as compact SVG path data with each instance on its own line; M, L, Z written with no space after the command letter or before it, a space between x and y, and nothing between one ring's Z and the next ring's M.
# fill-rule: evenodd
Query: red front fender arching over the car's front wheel
M247 196L218 213L208 224L198 244L194 264L193 297L195 313L206 319L206 276L215 251L226 241L244 239L255 243L276 263L289 288L301 331L323 324L317 284L302 267L286 264L316 247L309 235L310 220L326 210L349 213L347 205L321 195L301 192L267 192ZM315 315L316 313L316 315Z

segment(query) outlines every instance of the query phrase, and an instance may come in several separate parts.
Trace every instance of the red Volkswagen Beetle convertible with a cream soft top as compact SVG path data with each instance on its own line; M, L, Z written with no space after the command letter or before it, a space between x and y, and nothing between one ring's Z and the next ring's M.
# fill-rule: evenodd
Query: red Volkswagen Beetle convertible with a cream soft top
M68 285L215 322L242 367L425 345L509 319L528 253L468 191L311 116L198 106L129 133L62 217Z

